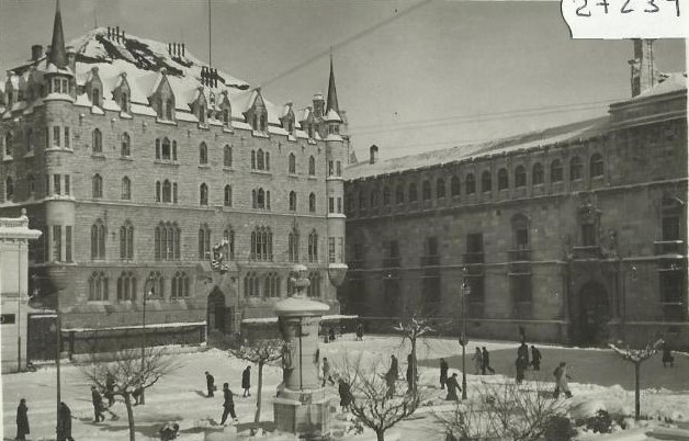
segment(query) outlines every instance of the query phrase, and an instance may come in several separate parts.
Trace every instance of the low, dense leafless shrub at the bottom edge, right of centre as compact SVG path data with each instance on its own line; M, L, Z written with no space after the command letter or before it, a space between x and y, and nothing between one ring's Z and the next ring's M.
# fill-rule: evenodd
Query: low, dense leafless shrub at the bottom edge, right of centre
M454 411L437 414L448 440L541 439L551 418L563 414L562 402L550 396L547 386L527 388L516 383L484 383L478 399L458 404Z

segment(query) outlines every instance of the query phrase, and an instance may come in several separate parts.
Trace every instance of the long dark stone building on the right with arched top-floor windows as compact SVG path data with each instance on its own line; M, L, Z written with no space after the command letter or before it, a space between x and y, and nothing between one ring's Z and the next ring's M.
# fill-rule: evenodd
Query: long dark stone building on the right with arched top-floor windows
M346 169L343 309L468 335L689 347L687 78L634 42L609 115ZM464 284L464 290L462 285ZM655 341L655 340L653 340Z

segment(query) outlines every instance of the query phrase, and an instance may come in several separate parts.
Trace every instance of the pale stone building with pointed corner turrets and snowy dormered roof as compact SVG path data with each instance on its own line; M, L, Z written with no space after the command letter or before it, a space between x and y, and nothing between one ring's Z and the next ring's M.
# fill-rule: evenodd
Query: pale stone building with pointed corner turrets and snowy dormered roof
M196 343L272 315L308 267L339 312L349 140L332 64L327 100L274 105L183 44L90 31L8 72L0 213L43 231L32 290L65 350ZM57 293L59 292L59 295ZM30 333L31 323L30 323ZM95 344L95 346L94 346Z

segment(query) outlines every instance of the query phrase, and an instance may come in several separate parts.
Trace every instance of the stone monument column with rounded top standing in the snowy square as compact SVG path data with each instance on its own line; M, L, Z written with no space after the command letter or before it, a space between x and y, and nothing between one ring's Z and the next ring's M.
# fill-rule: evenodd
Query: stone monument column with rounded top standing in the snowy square
M306 297L309 280L295 265L296 294L275 304L283 347L283 383L273 404L278 430L300 436L328 432L329 399L318 382L318 325L328 305Z

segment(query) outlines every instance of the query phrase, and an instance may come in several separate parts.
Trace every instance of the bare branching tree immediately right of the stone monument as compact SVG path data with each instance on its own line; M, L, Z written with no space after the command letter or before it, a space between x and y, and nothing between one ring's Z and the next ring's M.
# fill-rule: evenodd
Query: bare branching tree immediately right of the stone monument
M353 395L349 406L352 415L365 427L372 429L377 441L385 441L385 431L403 419L411 416L421 404L417 391L391 397L383 380L384 368L380 362L363 365L361 355L355 362L343 357L336 366L341 380L348 382Z

